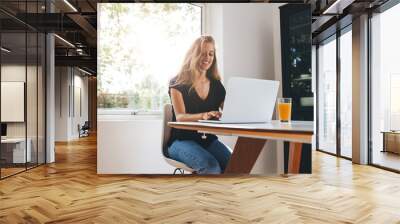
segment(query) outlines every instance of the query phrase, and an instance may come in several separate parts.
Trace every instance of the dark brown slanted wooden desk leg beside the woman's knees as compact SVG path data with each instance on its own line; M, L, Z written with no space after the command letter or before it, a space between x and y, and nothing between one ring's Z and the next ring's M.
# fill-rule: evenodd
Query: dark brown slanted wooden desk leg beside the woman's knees
M239 137L224 173L249 174L266 142L266 139Z

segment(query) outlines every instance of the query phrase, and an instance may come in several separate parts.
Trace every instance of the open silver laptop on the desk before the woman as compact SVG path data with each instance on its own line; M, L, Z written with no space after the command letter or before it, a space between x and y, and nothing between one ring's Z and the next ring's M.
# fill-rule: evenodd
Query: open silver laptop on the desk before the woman
M279 82L235 77L228 82L224 110L220 120L205 123L265 123L272 119Z

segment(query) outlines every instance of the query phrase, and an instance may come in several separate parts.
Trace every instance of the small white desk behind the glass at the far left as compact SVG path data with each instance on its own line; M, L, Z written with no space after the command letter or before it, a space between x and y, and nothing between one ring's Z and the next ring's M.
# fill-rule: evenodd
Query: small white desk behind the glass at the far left
M12 150L12 163L25 163L26 162L31 162L31 144L32 141L30 138L27 138L26 142L27 148L26 148L26 154L25 154L25 138L6 138L6 139L1 139L1 144L2 146L2 152L5 152L7 150ZM13 148L8 148L8 147L13 147ZM6 148L3 148L6 147Z

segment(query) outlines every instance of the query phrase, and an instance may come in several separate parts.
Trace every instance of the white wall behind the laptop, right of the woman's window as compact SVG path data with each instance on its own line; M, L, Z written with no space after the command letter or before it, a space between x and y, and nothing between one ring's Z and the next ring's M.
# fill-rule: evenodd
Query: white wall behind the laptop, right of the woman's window
M280 5L206 5L205 32L215 38L217 53L222 55L219 65L225 84L235 76L281 80ZM233 149L237 138L220 136L220 139ZM268 142L252 174L282 172L283 148L279 148L276 142Z

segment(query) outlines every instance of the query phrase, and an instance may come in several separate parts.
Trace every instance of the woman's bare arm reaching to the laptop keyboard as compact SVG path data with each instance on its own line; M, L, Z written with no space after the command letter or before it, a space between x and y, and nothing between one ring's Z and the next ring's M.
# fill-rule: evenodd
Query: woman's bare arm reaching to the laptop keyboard
M171 101L174 107L174 112L176 116L176 121L198 121L198 120L208 120L214 117L219 118L219 112L210 111L198 114L187 114L185 110L185 103L183 102L183 97L181 92L171 88Z

